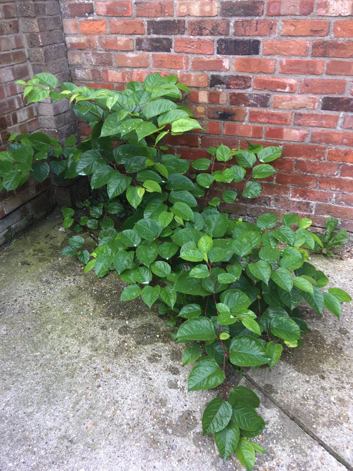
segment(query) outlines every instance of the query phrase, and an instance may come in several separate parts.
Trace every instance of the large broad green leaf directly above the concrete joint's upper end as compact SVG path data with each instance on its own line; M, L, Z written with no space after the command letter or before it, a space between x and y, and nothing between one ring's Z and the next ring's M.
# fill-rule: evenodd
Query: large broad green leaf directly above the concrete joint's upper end
M241 335L232 339L229 359L233 365L237 366L265 365L270 360L262 343L249 335Z

